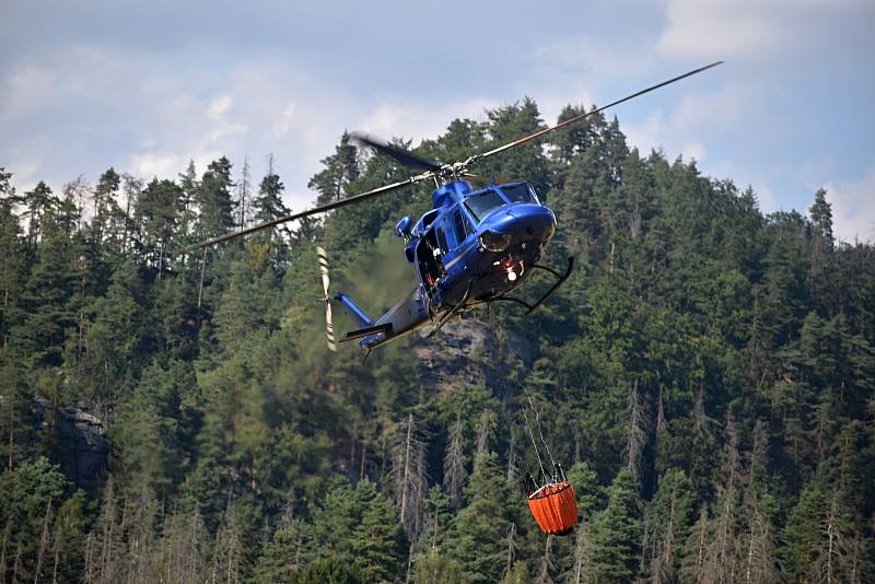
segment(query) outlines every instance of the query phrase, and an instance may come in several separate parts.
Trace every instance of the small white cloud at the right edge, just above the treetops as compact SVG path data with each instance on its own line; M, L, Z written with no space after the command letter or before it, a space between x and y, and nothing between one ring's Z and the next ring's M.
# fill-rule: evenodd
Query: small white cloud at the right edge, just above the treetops
M845 242L875 241L875 163L860 180L826 185L827 201L832 205L836 237Z

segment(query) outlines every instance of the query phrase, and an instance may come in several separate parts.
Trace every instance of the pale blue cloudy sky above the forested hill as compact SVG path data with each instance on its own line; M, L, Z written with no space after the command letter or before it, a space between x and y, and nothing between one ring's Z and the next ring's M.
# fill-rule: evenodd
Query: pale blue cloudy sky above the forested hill
M418 142L525 95L553 122L723 59L609 115L767 212L825 186L839 237L875 241L873 30L872 0L2 0L0 166L23 190L272 153L303 209L345 129Z

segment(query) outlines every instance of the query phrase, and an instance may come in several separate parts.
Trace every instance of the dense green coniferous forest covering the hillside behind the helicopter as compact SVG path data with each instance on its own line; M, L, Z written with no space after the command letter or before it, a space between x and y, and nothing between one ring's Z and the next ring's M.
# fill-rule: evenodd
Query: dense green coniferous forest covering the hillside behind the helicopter
M487 114L415 151L544 125ZM836 241L822 189L763 214L587 118L474 168L535 186L571 279L362 362L325 347L315 247L382 314L415 282L392 226L430 191L186 252L288 212L267 168L0 173L0 581L873 581L875 248ZM343 136L310 185L408 175ZM533 441L575 489L567 537L528 512Z

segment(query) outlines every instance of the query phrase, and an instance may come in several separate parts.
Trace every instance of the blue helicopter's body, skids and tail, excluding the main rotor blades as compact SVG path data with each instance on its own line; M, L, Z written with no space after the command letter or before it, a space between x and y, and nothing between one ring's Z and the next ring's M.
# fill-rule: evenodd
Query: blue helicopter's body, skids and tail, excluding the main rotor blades
M327 254L317 249L324 300L340 302L360 327L342 341L361 339L361 348L370 351L427 324L431 336L452 317L495 301L516 302L532 312L571 275L572 258L564 273L538 264L556 233L556 215L526 183L475 190L467 180L452 180L432 192L432 203L416 224L404 217L395 226L420 283L377 319L342 292L329 297ZM556 275L556 284L534 304L510 296L534 269ZM335 349L329 312L326 324L328 347Z

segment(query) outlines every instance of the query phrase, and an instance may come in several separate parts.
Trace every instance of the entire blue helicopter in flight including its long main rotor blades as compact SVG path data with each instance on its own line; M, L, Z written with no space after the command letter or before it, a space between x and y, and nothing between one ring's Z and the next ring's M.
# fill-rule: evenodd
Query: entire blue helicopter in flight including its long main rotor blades
M541 202L535 189L527 183L498 184L494 178L485 180L485 177L468 170L490 156L722 62L695 69L455 163L439 164L366 133L353 132L352 137L359 143L421 172L360 195L213 237L192 248L211 246L289 221L358 205L410 185L433 182L432 209L416 222L405 215L395 225L395 232L404 241L405 258L412 265L419 283L378 318L369 316L343 292L329 295L328 254L324 248L317 248L324 290L324 296L319 300L326 306L328 349L336 351L338 348L334 335L332 303L339 303L358 326L357 329L346 332L341 342L358 339L360 348L365 351L365 358L373 349L425 325L431 325L428 335L431 337L453 317L492 302L512 302L523 306L526 314L530 314L568 280L574 267L574 259L571 257L562 270L539 264L556 233L556 214ZM482 188L471 185L483 182L488 184ZM551 273L556 281L532 303L510 295L535 270Z

